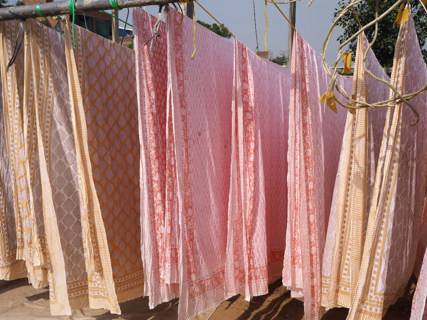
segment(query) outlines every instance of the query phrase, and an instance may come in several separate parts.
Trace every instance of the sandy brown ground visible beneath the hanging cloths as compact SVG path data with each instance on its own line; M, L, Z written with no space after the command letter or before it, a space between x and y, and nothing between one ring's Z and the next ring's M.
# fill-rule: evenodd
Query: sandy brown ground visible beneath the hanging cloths
M412 296L416 278L412 277L407 290L395 305L389 308L384 320L409 320ZM221 303L210 320L303 320L304 306L299 300L291 299L290 291L281 285L281 279L269 286L269 294L254 297L247 302L237 296ZM26 279L7 283L0 288L0 319L34 320L89 320L89 319L132 319L132 320L174 320L178 313L178 299L148 308L148 298L143 297L120 303L122 314L111 314L103 309L85 308L73 311L72 316L54 317L50 315L49 294L46 288L34 289ZM322 319L344 320L348 309L329 310Z

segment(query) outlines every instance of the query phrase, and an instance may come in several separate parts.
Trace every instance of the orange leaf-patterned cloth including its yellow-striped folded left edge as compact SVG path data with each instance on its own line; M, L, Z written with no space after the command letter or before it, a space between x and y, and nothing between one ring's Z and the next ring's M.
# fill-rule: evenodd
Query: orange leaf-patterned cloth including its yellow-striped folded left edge
M142 296L144 283L135 55L120 44L74 28L76 51L74 55L67 46L67 65L75 140L86 181L84 198L89 204L86 219L91 221L85 241L87 251L93 248L89 259L99 257L87 267L95 266L89 270L93 271L89 281L94 283L94 295L102 292L102 305L120 313L117 302Z

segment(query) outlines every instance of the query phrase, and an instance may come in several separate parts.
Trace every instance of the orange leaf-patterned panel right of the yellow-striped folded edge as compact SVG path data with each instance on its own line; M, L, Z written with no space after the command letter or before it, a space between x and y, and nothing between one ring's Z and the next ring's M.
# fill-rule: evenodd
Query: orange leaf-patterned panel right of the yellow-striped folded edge
M94 186L117 300L124 302L142 296L144 284L135 52L74 27Z

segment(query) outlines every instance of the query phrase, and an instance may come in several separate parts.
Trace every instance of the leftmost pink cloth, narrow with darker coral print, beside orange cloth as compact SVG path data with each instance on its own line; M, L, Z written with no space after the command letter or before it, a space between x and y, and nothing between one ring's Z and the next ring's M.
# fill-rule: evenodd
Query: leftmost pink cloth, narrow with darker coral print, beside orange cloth
M175 270L177 275L177 241L175 250L170 243L175 230L167 229L167 210L174 209L173 192L167 190L175 186L173 167L173 140L167 144L167 138L173 138L171 108L167 108L167 38L166 25L161 21L161 37L155 41L150 54L150 45L144 44L152 37L156 17L141 8L135 8L133 21L135 25L135 54L138 96L138 127L141 145L140 153L140 190L141 190L141 253L144 265L144 295L149 297L149 306L154 308L178 297L179 288L162 277L161 270ZM168 119L167 119L168 117ZM172 129L167 134L167 128ZM172 152L172 154L171 154ZM173 189L172 189L173 190ZM169 194L172 196L169 197ZM167 197L168 194L168 197ZM178 227L175 221L173 227ZM173 233L177 239L178 233ZM169 239L169 241L168 241ZM172 253L173 252L173 253ZM168 254L169 253L169 254ZM172 255L172 256L171 256ZM167 258L167 257L168 258ZM169 263L167 262L169 261ZM172 262L176 263L172 266ZM167 266L166 266L167 265ZM169 273L170 274L170 273ZM174 277L176 279L176 276Z

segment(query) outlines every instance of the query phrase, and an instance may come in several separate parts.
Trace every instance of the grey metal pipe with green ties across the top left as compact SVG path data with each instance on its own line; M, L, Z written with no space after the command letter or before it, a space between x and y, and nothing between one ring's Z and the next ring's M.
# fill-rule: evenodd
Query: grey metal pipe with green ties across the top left
M117 0L120 8L155 6L174 2L178 2L178 0ZM0 8L0 21L36 18L38 17L35 11L36 7L37 4L30 4L27 6ZM110 0L77 0L75 8L76 13L113 9ZM68 1L41 3L40 12L45 17L69 15Z

